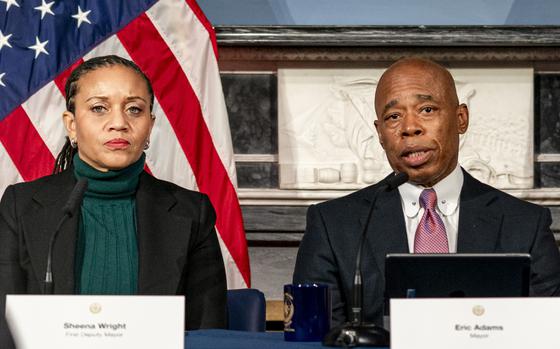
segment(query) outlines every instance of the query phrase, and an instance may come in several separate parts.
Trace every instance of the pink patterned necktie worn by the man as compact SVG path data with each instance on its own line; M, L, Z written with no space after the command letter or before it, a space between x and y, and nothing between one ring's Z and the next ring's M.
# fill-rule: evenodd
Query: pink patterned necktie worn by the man
M414 253L449 253L445 225L436 212L436 202L437 195L433 189L424 189L420 194L424 215L414 236Z

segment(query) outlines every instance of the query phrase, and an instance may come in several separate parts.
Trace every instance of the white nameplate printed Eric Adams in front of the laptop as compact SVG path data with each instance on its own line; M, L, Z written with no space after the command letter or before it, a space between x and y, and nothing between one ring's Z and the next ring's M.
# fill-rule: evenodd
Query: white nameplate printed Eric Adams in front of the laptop
M392 299L391 349L558 348L558 298Z

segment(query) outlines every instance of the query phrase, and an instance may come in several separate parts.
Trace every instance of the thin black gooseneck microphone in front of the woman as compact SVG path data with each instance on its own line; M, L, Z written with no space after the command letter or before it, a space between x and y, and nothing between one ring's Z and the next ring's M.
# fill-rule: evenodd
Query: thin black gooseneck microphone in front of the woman
M78 209L78 206L80 206L80 204L82 203L82 198L84 197L84 193L86 192L87 185L88 182L85 178L80 178L76 185L74 185L74 189L72 189L68 201L62 208L64 216L62 216L62 218L58 222L56 230L51 235L51 239L49 240L49 252L47 253L47 270L45 272L43 294L53 294L54 290L54 283L52 278L52 249L54 246L54 241L56 240L56 236L58 235L58 232L60 231L60 228L62 227L64 222L66 222L68 218L72 218L74 216L74 213Z

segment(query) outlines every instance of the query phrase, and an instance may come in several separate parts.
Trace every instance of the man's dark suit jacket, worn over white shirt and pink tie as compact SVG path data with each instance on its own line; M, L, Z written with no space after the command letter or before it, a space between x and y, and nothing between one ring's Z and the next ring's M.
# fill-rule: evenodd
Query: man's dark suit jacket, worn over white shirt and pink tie
M530 253L530 294L560 294L560 254L549 228L550 211L463 173L457 252ZM321 282L332 287L334 325L346 321L351 314L349 303L356 254L376 189L377 185L373 185L311 206L307 212L294 282ZM409 252L398 190L379 195L364 247L363 314L366 321L383 325L385 256Z

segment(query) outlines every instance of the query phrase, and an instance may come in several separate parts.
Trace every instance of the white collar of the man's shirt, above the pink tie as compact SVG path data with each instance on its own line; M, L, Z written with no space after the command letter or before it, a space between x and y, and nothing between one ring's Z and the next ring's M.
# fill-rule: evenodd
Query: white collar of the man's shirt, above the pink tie
M457 210L459 206L459 196L463 187L463 171L461 166L457 167L444 179L437 182L433 189L438 197L437 208L444 216L449 216ZM420 211L420 193L425 187L410 182L406 182L399 187L399 193L404 208L404 214L413 218Z

